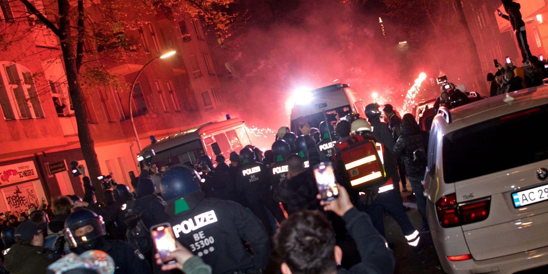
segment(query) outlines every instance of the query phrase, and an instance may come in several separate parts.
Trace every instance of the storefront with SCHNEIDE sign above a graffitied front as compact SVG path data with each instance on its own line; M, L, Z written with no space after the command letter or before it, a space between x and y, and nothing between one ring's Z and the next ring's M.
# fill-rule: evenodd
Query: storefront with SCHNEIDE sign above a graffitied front
M0 212L25 212L46 197L33 160L0 165Z

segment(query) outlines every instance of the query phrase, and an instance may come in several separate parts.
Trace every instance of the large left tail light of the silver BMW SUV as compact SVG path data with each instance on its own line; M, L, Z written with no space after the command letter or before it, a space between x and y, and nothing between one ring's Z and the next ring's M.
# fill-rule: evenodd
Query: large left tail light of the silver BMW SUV
M487 219L490 205L491 196L457 203L456 195L452 193L439 198L436 212L442 227L453 227Z

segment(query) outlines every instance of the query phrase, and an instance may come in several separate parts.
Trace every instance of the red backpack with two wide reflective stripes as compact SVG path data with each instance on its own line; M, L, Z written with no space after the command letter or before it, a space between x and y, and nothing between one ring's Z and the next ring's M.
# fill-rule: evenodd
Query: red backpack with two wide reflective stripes
M373 140L352 135L336 146L353 189L368 189L384 184L386 172Z

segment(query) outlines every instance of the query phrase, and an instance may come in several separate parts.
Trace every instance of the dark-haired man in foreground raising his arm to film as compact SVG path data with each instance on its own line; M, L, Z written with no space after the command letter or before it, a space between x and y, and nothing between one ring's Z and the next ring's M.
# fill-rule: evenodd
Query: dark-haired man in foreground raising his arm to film
M390 274L395 259L383 236L376 231L369 215L350 202L345 188L336 185L333 199L318 194L323 209L341 216L356 241L361 262L350 269L339 268L343 251L335 245L333 228L318 210L297 212L282 222L273 238L276 259L282 274L375 273ZM303 241L306 239L306 241Z

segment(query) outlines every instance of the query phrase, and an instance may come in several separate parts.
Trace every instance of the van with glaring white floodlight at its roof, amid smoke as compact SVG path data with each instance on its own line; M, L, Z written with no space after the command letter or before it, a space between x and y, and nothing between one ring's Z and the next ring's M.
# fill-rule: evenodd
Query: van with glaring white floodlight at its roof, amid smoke
M365 116L366 104L356 89L349 84L332 84L310 91L310 98L295 102L291 110L290 129L300 134L299 121L307 121L310 127L318 128L319 123L327 116L329 123L334 124L347 115ZM302 96L301 96L302 97ZM324 113L325 112L325 116Z

